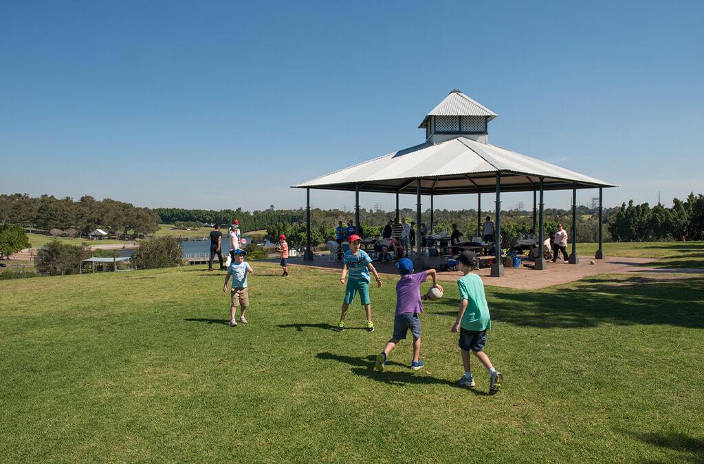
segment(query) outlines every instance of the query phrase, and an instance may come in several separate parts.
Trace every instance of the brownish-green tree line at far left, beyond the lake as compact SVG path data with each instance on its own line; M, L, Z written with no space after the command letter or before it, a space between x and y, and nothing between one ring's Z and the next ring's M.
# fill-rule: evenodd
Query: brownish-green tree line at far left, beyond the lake
M42 195L32 198L26 193L0 195L0 224L16 224L29 229L58 229L68 236L87 236L103 228L115 236L128 231L145 236L158 230L156 212L130 203L106 198L96 200L85 195L80 200Z

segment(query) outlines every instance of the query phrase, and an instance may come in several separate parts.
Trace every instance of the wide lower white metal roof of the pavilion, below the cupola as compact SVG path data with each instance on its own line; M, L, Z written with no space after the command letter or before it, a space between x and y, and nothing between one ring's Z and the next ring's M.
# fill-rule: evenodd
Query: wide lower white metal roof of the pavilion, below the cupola
M353 191L359 186L366 192L415 193L415 181L420 179L424 195L491 192L496 190L499 172L502 191L532 191L541 178L545 190L615 186L534 157L458 137L389 153L294 187Z

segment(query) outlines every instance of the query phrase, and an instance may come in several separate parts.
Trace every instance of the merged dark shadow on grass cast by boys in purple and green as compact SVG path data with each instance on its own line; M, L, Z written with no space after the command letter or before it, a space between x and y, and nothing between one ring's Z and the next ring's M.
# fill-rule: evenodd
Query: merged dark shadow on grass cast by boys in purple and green
M413 385L448 385L449 387L467 389L470 392L476 394L477 396L484 397L489 396L485 392L477 391L476 389L466 388L459 385L457 382L452 382L451 380L444 380L429 375L423 375L422 370L417 371L391 371L388 370L384 372L377 372L374 370L375 354L367 356L365 358L356 358L353 356L344 356L342 354L333 354L328 352L322 352L315 355L318 359L338 361L341 363L346 363L350 366L351 372L355 375L360 375L366 377L375 382L382 382L389 385L396 385L398 387L406 384ZM408 364L396 363L394 361L386 361L386 366L401 366L410 370Z

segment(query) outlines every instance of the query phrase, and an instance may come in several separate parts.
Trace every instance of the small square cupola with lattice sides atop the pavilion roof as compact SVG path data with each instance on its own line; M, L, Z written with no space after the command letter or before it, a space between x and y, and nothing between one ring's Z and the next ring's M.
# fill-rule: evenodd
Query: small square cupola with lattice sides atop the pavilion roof
M418 129L425 129L425 138L432 144L457 137L489 143L486 127L496 116L489 108L455 89L425 115Z

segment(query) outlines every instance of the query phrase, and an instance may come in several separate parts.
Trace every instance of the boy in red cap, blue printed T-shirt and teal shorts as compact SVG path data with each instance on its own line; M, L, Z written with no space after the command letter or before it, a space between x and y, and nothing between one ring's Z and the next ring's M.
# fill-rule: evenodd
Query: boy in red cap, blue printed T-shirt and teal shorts
M345 283L345 276L349 270L349 280L345 291L345 298L342 302L342 313L340 314L340 322L337 324L337 330L342 332L345 330L345 314L350 303L354 301L354 296L359 292L359 298L367 313L367 330L374 332L374 323L372 323L372 300L369 297L369 270L372 271L377 279L377 285L382 286L382 279L379 278L377 270L372 266L372 258L364 250L360 250L362 239L356 234L352 234L347 238L350 244L350 249L347 250L342 257L342 276L340 283Z

